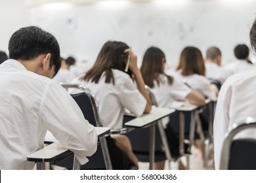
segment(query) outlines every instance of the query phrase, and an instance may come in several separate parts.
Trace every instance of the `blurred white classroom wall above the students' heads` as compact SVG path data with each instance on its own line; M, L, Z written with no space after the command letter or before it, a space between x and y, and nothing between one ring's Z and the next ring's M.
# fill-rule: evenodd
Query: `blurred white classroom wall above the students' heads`
M47 3L24 8L28 12L19 17L22 21L15 21L15 27L28 20L43 27L58 39L62 56L73 55L80 62L93 63L102 44L116 40L129 44L139 62L149 46L159 46L170 67L175 67L184 46L197 46L205 55L205 50L215 45L221 48L226 63L234 59L236 44L249 44L255 7L253 0ZM13 17L20 15L13 13Z

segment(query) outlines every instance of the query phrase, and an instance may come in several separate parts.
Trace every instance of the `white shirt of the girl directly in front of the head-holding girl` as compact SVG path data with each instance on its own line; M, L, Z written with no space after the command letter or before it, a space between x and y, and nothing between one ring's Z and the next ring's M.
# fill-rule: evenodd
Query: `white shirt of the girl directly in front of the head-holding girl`
M173 84L169 84L165 75L160 75L159 85L156 80L154 81L154 88L151 91L154 93L158 107L171 107L175 100L184 99L192 92L188 86L175 78L173 79ZM163 122L163 126L166 127L169 117L163 118L161 121Z

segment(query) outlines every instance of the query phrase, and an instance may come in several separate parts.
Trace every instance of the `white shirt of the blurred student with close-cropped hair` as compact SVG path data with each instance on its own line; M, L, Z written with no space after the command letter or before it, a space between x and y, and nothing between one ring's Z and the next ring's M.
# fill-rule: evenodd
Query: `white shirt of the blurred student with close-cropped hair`
M217 63L205 63L205 76L207 78L213 78L215 80L218 80L219 82L221 82L221 84L223 84L226 78L228 78L232 74L232 71L224 69L223 67L217 65Z

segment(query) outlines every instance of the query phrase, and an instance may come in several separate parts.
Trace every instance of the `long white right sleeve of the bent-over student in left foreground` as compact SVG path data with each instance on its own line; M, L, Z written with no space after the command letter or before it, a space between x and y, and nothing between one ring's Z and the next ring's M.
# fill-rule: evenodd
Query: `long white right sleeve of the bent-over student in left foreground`
M98 137L93 125L85 120L74 99L60 84L45 89L41 103L41 123L65 147L72 150L81 165L96 151Z

